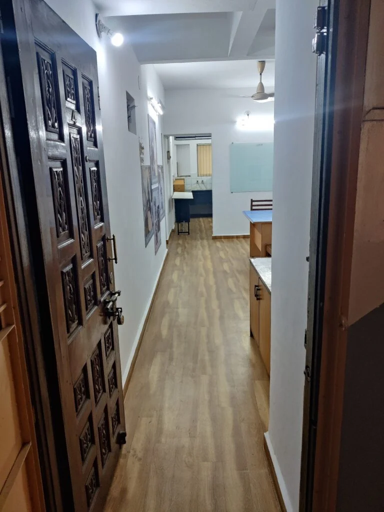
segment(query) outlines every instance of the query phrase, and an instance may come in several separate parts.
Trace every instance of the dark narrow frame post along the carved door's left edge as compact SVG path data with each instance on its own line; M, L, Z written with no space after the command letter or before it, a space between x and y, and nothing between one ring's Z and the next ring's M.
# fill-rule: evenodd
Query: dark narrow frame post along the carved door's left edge
M6 15L5 5L2 5L2 15ZM31 254L28 247L25 205L19 181L20 160L16 158L13 137L12 116L14 117L15 112L13 105L10 109L8 95L8 91L11 94L16 94L17 91L9 89L9 75L6 74L4 68L3 48L5 47L7 58L10 60L17 54L16 50L12 48L12 41L9 39L6 41L4 33L0 34L0 41L0 158L4 196L45 504L47 510L60 512L62 510L60 479L54 445L48 382L42 358L41 326Z

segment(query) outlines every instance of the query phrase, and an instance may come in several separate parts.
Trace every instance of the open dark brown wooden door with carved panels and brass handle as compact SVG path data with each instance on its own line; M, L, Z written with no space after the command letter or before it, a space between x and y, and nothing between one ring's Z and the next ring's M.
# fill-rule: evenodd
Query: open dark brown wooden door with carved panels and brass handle
M56 442L68 453L63 493L72 490L76 512L100 510L125 421L117 322L103 308L114 271L96 52L41 0L13 0L13 11L34 184L25 193L44 255L36 287L49 300L40 315L52 325L45 343L55 345L65 431Z

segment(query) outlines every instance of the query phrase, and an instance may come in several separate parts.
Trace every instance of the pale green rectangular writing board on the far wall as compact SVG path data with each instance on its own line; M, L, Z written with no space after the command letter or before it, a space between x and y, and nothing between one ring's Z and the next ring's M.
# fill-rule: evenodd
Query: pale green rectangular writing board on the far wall
M271 192L273 142L229 146L230 191Z

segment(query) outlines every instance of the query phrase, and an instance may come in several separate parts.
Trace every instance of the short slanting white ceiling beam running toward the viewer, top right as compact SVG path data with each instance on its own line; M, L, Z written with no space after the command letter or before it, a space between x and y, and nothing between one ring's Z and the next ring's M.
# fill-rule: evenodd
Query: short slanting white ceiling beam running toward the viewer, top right
M271 0L258 0L253 11L242 12L240 20L233 19L232 30L235 22L237 24L236 32L230 38L228 57L239 58L248 55L248 50L252 45L255 35L258 33L267 9L273 8Z

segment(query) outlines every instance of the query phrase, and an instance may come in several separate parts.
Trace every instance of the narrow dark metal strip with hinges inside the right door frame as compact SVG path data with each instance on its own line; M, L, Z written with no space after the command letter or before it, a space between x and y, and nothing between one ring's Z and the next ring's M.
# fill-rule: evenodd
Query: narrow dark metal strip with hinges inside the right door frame
M314 455L318 413L318 388L321 366L325 270L329 221L330 170L334 107L334 76L339 0L321 0L325 27L318 26L322 37L317 55L315 125L312 169L312 200L309 243L306 367L303 410L300 510L312 510ZM315 35L315 34L314 34ZM310 41L308 42L308 44ZM316 55L313 55L316 58Z

